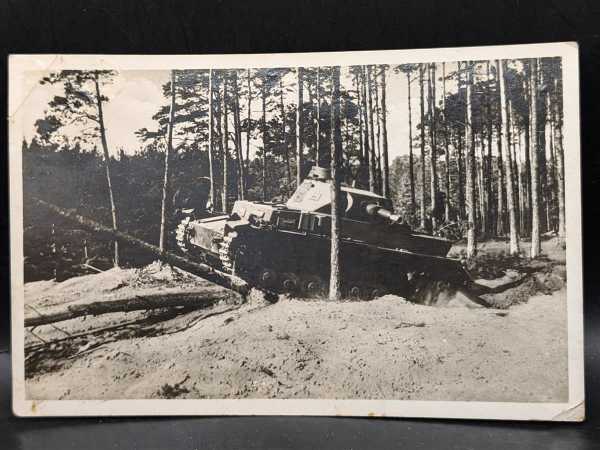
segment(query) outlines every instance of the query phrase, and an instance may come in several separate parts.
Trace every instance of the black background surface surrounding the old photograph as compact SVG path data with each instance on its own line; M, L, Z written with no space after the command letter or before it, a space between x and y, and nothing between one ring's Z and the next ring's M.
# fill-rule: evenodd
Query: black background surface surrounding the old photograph
M586 402L583 424L310 417L17 419L10 412L8 169L0 121L2 448L600 448L600 2L0 1L0 115L9 53L255 53L578 41ZM567 149L568 150L568 149ZM510 339L510 336L507 336Z

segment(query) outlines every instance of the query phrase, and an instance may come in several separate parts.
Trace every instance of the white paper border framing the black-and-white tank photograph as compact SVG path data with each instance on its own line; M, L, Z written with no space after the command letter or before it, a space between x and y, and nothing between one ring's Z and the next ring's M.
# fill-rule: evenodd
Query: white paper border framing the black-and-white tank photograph
M563 70L569 397L565 403L339 399L27 400L24 368L22 108L29 71L223 69L561 57ZM17 416L309 415L582 421L583 271L579 55L575 42L444 49L245 55L11 55L9 183L12 405Z

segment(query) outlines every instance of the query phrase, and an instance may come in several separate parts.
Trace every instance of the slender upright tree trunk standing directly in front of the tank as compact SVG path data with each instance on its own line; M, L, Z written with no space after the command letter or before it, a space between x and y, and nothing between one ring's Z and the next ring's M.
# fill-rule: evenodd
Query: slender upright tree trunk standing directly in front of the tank
M342 208L340 204L342 171L342 133L340 129L340 68L332 68L332 145L331 145L331 261L329 299L339 300L342 296L341 277L341 234Z

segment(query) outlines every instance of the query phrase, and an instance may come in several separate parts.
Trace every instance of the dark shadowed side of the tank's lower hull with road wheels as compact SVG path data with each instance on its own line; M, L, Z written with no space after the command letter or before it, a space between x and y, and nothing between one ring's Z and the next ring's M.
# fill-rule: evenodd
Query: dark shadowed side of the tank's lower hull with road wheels
M329 281L331 241L328 236L286 231L256 232L239 226L236 244L231 246L232 259L238 262L233 273L248 281L264 285L262 276L269 275L271 287L285 291L290 278L301 282L298 291L306 290L305 280L319 280L326 287ZM242 246L238 251L238 246ZM369 297L395 293L406 297L412 281L421 277L462 285L469 281L460 262L441 256L426 255L404 249L343 239L341 270L345 295ZM360 292L360 294L356 294Z

